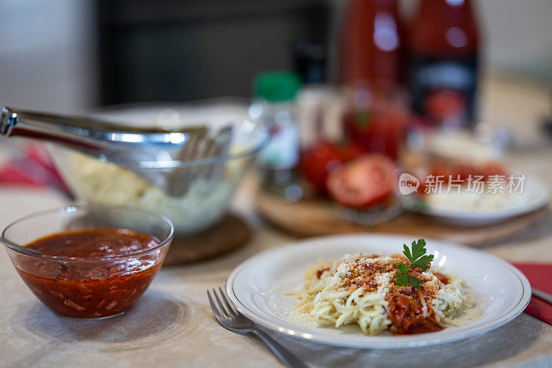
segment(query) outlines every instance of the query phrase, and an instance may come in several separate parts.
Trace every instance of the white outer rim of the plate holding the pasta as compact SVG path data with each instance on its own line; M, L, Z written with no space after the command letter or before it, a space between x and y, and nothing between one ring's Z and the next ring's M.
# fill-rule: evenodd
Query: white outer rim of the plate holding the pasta
M305 243L316 243L319 240L346 240L350 238L395 238L395 239L404 239L408 238L408 236L400 235L400 234L380 234L380 233L373 233L373 234L341 234L341 235L331 235L331 236L318 236L303 240L296 240L292 242L286 242L285 244L282 244L281 246L276 246L272 249L267 249L266 251L262 251L260 253L257 253L256 255L253 255L252 257L248 258L247 260L244 260L241 264L239 264L233 271L230 273L230 276L228 277L228 280L226 282L226 293L228 294L230 300L233 302L235 307L238 309L238 311L250 320L253 320L255 324L265 327L267 329L270 329L271 331L284 333L288 336L293 336L295 338L300 338L302 340L306 341L313 341L322 343L324 345L333 345L333 346L339 346L339 347L355 347L355 348L375 348L375 349L393 349L397 347L422 347L422 346L428 346L428 345L437 345L442 344L445 342L451 342L455 340L464 340L465 338L481 335L482 333L491 331L493 329L497 329L498 327L501 327L505 325L506 323L510 322L517 316L519 316L524 309L526 308L527 304L529 304L529 301L531 300L531 285L529 284L529 280L525 277L525 275L515 268L512 264L507 262L506 260L502 260L501 258L497 258L494 255L491 255L489 253L486 253L484 251L480 251L479 249L473 249L469 246L464 246L462 244L458 244L455 242L449 242L447 240L439 240L435 238L427 238L427 242L435 241L440 242L441 244L444 244L447 248L450 246L453 249L462 249L467 250L472 253L475 253L475 255L483 255L484 257L488 258L495 264L497 264L500 267L503 267L507 271L510 271L513 273L518 280L520 280L520 287L521 287L521 293L519 296L519 300L515 303L511 309L508 311L505 311L501 313L500 318L495 318L489 322L486 322L484 325L480 327L476 327L475 329L471 329L468 331L465 331L462 335L449 335L449 336L437 336L437 338L420 338L420 336L424 335L409 335L409 336L395 336L393 337L393 340L387 340L386 337L382 336L364 336L359 335L355 336L359 339L353 340L340 340L338 335L335 336L328 336L328 335L317 335L313 334L312 331L306 330L306 327L302 327L299 324L294 324L293 322L288 322L283 320L285 325L291 325L293 326L293 329L289 329L286 326L282 326L282 323L276 323L269 319L266 319L268 316L269 318L273 318L272 316L269 316L266 313L259 312L259 311L252 311L246 305L244 305L238 298L237 294L234 291L234 282L237 277L237 275L243 271L245 267L248 267L250 264L253 264L257 262L261 258L265 258L269 256L271 253L280 252L282 249L294 249L297 246L301 246ZM364 340L366 338L366 340ZM382 338L385 338L385 340L382 340ZM364 341L362 341L364 340Z

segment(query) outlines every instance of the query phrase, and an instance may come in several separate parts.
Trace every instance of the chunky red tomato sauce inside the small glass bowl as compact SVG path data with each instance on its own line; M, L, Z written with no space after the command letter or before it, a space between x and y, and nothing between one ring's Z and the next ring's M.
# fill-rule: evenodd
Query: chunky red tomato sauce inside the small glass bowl
M19 267L17 271L34 295L61 316L115 316L138 300L161 266L159 253L132 254L159 243L155 237L126 229L55 233L26 246L47 255L74 258L26 260L25 271Z

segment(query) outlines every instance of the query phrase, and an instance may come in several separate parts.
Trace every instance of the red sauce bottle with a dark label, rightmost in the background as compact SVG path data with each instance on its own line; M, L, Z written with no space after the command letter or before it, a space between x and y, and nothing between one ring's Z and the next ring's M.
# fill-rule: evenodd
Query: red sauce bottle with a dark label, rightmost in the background
M480 42L470 0L422 0L408 32L413 109L442 126L471 126Z

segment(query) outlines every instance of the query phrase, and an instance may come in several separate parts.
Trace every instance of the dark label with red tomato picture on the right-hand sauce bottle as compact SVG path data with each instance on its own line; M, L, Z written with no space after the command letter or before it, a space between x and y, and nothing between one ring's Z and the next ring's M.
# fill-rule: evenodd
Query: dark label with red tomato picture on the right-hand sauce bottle
M475 113L477 59L415 56L409 85L413 109L441 124L469 125Z

